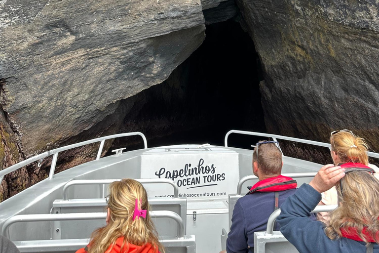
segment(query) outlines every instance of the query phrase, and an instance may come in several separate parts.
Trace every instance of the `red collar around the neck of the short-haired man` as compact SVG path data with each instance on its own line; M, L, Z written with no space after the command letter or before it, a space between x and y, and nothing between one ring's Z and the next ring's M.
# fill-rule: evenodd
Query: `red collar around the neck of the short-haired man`
M246 195L254 192L285 191L289 189L296 189L296 187L298 187L296 180L288 176L278 175L259 181L250 188L250 191Z

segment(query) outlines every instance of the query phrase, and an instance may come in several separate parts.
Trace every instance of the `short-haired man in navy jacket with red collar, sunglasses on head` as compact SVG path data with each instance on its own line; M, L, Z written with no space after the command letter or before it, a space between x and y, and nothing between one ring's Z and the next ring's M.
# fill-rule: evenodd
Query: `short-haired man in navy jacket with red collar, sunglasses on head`
M254 232L265 231L270 214L294 194L296 180L282 176L282 153L277 141L260 141L253 152L253 173L259 182L238 199L227 238L227 253L254 252ZM274 230L279 230L276 224Z

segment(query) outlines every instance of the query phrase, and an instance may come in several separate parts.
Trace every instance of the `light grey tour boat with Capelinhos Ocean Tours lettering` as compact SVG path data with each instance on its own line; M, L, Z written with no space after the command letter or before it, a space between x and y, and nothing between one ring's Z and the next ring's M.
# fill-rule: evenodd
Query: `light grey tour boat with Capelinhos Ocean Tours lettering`
M225 146L148 148L143 133L131 132L60 147L0 171L1 183L6 174L52 156L48 178L0 203L0 233L20 252L75 253L88 244L93 230L105 225L108 184L135 178L148 191L151 215L166 252L219 253L226 247L237 199L258 181L252 175L253 150L229 147L230 134L330 147L329 143L241 130L227 132ZM121 148L101 157L106 140L133 135L141 136L143 149L123 152ZM54 173L61 152L92 143L100 143L93 161ZM373 152L369 156L379 158ZM296 178L298 185L309 182L322 166L287 156L283 162L282 174ZM324 206L315 211L334 208ZM297 252L280 231L272 229L279 212L270 216L267 231L255 233L255 252Z

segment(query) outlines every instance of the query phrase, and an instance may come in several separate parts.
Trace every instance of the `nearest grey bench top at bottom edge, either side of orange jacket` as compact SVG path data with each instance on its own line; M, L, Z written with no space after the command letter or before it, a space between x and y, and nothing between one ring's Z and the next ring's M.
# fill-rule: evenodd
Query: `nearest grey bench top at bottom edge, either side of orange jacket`
M36 240L13 242L21 253L75 253L87 246L89 239ZM183 238L162 236L159 240L166 253L195 253L195 236L185 235Z

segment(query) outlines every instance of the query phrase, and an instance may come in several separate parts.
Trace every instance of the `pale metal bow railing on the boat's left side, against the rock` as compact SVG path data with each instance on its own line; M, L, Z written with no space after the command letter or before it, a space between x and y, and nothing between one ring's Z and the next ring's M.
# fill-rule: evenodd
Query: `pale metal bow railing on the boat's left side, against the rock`
M114 134L114 135L109 135L109 136L104 136L104 137L100 137L100 138L96 138L96 139L92 139L92 140L87 140L87 141L82 141L82 142L79 142L79 143L76 143L76 144L71 144L71 145L68 145L68 146L65 146L65 147L61 147L61 148L56 148L56 149L53 149L53 150L50 150L50 151L46 151L46 152L43 152L42 154L39 154L37 156L34 156L34 157L31 157L31 158L28 158L18 164L15 164L11 167L8 167L6 169L2 169L0 170L0 184L2 182L2 179L4 178L5 175L17 170L17 169L20 169L24 166L27 166L33 162L36 162L40 159L43 159L45 157L48 157L48 156L51 156L53 155L53 160L51 162L51 167L50 167L50 173L49 173L49 179L52 179L53 176L54 176L54 172L55 172L55 166L57 164L57 160L58 160L58 153L59 152L62 152L62 151L66 151L66 150L69 150L69 149L72 149L72 148L77 148L77 147L81 147L81 146L84 146L84 145L88 145L88 144L92 144L92 143L96 143L96 142L100 142L100 147L99 147L99 150L97 152L97 156L96 156L96 160L99 160L100 157L101 157L101 153L103 152L103 148L104 148L104 143L106 140L109 140L109 139L114 139L114 138L119 138L119 137L126 137L126 136L134 136L134 135L140 135L142 137L142 139L144 140L144 149L147 149L148 148L148 141L146 140L146 137L145 135L142 133L142 132L128 132L128 133L119 133L119 134Z

